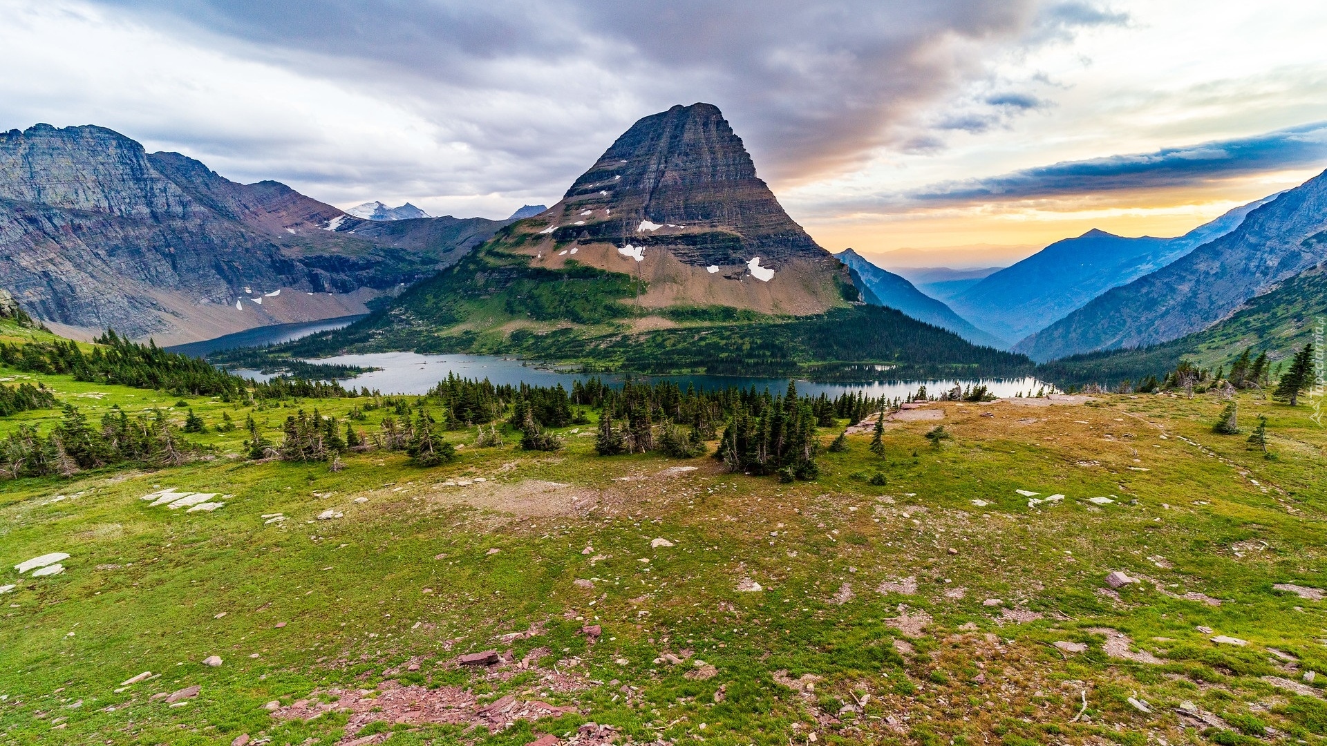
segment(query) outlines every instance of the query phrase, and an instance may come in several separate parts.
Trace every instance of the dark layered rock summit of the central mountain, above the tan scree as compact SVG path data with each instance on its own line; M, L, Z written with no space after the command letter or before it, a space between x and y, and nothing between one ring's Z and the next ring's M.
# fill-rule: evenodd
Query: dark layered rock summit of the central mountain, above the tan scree
M637 121L555 206L559 242L666 247L698 267L778 268L827 259L796 224L711 104L673 106Z

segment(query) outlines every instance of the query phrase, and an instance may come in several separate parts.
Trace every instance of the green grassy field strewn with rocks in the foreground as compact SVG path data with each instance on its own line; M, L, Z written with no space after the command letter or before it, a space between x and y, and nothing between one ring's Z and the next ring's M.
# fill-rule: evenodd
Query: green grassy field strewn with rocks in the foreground
M273 439L295 408L364 404L0 378L93 422L252 413ZM1327 587L1327 435L1242 396L1265 459L1212 434L1222 404L930 405L884 458L852 437L794 485L600 458L593 425L553 454L454 431L450 465L338 473L245 462L240 427L191 435L211 461L3 482L0 743L1318 743L1324 601L1274 585ZM167 487L226 504L141 499ZM64 572L15 571L46 552Z

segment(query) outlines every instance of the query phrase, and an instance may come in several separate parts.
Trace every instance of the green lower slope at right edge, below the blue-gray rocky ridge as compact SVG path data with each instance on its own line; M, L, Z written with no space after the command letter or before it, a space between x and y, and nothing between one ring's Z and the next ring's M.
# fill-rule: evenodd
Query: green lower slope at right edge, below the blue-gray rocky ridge
M1139 382L1164 378L1181 360L1227 372L1245 349L1266 352L1273 366L1314 341L1314 325L1327 313L1327 264L1318 264L1275 289L1249 299L1229 319L1201 332L1141 349L1076 354L1038 366L1038 374L1059 385Z

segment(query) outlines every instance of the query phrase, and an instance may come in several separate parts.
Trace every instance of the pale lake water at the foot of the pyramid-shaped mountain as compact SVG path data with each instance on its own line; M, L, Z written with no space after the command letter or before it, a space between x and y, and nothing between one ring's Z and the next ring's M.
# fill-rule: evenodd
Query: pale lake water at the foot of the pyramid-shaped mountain
M447 373L454 373L459 378L474 378L480 381L488 378L494 384L499 385L515 385L524 382L532 386L556 386L557 384L561 384L568 389L571 388L572 381L585 381L587 378L591 378L591 376L584 373L560 373L547 368L535 368L515 358L484 354L419 354L414 352L378 352L369 354L341 354L337 357L313 360L311 362L378 368L378 370L362 373L354 378L341 381L341 384L354 388L364 386L370 390L377 389L385 394L427 393L429 389L438 384L438 381L445 380ZM235 370L235 373L256 378L259 381L264 381L271 377L263 376L256 370ZM625 380L625 376L621 374L598 377L609 382L621 382ZM723 389L729 386L748 389L755 386L756 390L768 389L772 393L780 393L788 388L788 378L748 378L742 376L636 376L634 378L648 381L673 381L683 390L687 386L695 386L697 389ZM938 394L954 388L955 385L967 386L971 384L985 384L986 388L989 388L995 396L1011 397L1019 392L1022 392L1023 396L1028 396L1028 393L1035 394L1040 386L1046 385L1031 377L983 378L979 381L869 381L863 384L816 384L799 380L796 384L799 393L812 396L824 393L831 398L844 392L865 392L872 397L906 397L914 393L920 385L925 385L928 393ZM1047 390L1050 390L1050 386L1046 386Z

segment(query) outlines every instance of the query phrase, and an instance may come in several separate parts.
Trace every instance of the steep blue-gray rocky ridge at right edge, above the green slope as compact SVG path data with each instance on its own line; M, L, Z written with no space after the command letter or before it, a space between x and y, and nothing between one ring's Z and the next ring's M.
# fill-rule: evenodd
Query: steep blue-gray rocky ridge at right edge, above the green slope
M1052 360L1137 348L1201 331L1327 258L1327 171L1168 267L1115 288L1016 349Z

